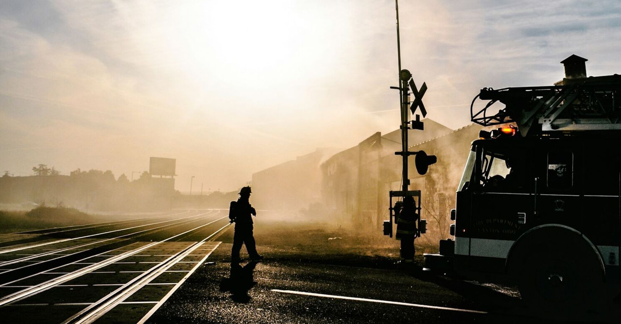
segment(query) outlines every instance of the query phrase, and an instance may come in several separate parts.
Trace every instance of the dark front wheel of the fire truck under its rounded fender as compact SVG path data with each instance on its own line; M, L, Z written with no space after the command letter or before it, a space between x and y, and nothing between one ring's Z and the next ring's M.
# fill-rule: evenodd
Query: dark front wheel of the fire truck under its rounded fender
M517 274L520 294L535 312L571 315L596 310L604 297L604 272L596 251L584 238L533 237L522 253Z

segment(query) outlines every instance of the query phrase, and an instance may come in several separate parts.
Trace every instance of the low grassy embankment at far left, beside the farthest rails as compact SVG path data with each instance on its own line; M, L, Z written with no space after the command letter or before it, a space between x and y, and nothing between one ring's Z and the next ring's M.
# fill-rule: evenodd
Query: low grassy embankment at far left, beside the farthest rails
M65 207L37 207L30 211L0 210L0 233L80 225L97 221L99 219L96 217Z

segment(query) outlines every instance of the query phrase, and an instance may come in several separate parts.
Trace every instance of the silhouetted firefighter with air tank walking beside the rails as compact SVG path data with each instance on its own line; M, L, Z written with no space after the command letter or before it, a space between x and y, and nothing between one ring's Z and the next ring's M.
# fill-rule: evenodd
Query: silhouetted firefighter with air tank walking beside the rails
M231 250L231 263L239 263L239 251L242 244L246 245L248 256L252 261L259 261L263 256L256 253L255 238L252 235L252 215L256 216L256 210L250 205L250 187L243 187L239 192L239 199L232 201L229 208L230 222L235 222L235 235L233 236L233 249Z

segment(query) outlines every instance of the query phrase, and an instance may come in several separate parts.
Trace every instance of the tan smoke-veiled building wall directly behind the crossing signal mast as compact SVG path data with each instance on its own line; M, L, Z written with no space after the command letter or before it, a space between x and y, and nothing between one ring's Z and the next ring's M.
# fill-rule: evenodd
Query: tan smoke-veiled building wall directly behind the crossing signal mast
M436 164L429 166L425 176L417 173L415 156L409 158L410 190L422 191L421 216L427 219L430 239L434 241L448 235L456 187L468 158L470 143L478 138L481 129L484 128L469 125L444 132L436 138L427 138L409 148L409 151L424 150L438 158ZM375 133L322 165L324 203L335 217L344 214L356 228L381 235L381 223L389 215L388 192L401 190L402 186L402 158L394 155L395 151L401 151L401 143Z

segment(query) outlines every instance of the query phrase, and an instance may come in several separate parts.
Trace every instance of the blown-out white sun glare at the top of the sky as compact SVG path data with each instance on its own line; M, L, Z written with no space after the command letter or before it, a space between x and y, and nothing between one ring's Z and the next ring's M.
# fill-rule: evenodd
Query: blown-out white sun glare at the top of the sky
M321 78L337 61L335 24L342 22L320 10L291 1L184 2L171 8L160 30L171 66L202 84L258 80L245 85L252 92L292 77Z

